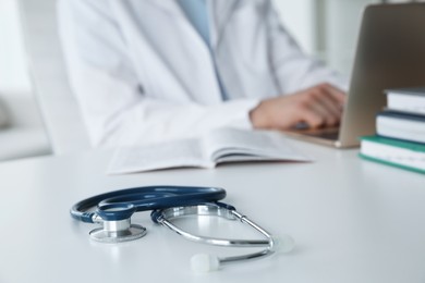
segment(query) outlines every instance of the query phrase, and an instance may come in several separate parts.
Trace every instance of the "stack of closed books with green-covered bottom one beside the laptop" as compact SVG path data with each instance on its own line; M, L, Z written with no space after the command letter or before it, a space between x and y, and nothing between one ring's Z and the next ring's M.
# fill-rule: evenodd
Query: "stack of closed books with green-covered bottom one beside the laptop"
M386 95L376 135L362 137L360 156L425 173L425 87L390 89Z

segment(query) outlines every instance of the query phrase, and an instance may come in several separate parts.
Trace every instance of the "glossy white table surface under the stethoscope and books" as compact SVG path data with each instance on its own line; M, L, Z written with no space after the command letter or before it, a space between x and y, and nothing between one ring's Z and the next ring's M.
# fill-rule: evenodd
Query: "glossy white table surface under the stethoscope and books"
M363 161L357 150L293 144L316 161L116 176L105 174L108 151L0 163L0 282L425 282L425 176ZM291 234L296 248L197 274L192 255L228 249L182 239L148 213L133 221L148 229L144 238L99 244L88 237L93 225L69 216L94 194L158 184L224 187L229 204Z

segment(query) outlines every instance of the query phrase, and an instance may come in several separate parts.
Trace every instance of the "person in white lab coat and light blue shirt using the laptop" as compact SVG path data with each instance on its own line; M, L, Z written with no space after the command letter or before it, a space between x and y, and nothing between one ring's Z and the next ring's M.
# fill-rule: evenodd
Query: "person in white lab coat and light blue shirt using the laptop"
M59 15L93 146L339 123L344 83L269 0L61 0Z

